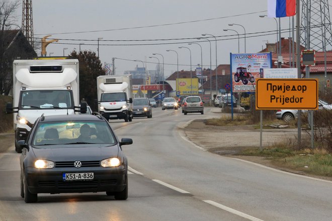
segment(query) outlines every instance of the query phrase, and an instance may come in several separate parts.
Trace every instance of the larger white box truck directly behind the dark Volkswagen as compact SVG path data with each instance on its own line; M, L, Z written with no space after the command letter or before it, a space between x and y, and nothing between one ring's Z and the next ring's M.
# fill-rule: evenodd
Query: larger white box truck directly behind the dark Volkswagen
M21 153L17 142L27 139L42 114L86 112L86 103L79 107L78 60L14 60L13 100L14 104L7 103L6 111L14 113L15 150Z

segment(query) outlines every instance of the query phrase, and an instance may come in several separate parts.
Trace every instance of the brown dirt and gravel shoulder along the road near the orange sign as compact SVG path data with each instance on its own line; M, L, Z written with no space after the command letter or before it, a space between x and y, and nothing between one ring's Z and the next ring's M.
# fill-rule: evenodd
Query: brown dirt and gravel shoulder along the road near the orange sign
M206 125L205 120L194 120L184 127L183 130L190 141L208 152L251 161L291 173L332 181L332 177L314 176L304 171L295 171L284 167L282 164L276 164L267 157L238 155L243 148L260 147L260 130L254 129L251 125L219 127ZM296 138L297 133L297 129L264 129L262 133L262 147L270 146L282 140Z

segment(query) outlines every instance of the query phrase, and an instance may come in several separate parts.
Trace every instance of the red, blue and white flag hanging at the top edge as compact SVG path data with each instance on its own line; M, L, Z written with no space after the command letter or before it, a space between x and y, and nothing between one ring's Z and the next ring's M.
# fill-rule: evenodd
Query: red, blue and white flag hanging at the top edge
M295 16L296 0L268 0L268 17L280 18Z

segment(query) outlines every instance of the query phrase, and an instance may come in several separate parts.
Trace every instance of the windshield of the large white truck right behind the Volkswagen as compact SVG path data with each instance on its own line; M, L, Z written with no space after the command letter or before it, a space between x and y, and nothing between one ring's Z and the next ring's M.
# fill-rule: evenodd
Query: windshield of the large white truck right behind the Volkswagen
M21 91L20 106L29 108L73 108L72 93L69 90L26 90Z

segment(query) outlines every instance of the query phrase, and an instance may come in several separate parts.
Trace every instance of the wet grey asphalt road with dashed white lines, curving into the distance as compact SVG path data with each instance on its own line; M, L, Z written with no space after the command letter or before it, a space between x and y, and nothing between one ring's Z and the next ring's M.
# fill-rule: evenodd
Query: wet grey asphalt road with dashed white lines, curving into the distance
M332 182L222 157L188 142L179 125L218 117L153 108L152 119L110 121L128 157L129 194L20 197L19 154L0 154L0 220L330 220ZM200 136L198 133L197 136ZM218 138L222 142L222 132Z

